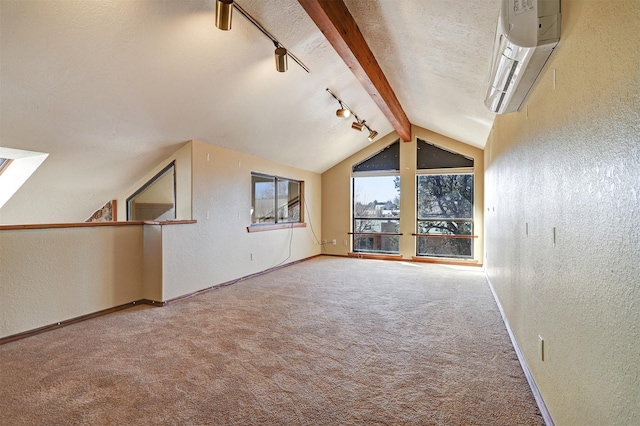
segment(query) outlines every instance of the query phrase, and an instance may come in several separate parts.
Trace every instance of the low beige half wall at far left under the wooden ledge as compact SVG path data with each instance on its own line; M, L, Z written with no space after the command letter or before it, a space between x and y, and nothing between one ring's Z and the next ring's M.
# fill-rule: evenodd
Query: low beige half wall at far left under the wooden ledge
M143 298L142 226L0 231L0 337Z

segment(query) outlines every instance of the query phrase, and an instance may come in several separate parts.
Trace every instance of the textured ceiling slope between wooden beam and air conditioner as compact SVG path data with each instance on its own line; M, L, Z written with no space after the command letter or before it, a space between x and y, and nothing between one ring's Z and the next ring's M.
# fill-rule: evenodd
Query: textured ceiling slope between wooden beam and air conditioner
M345 0L409 121L484 148L499 0Z

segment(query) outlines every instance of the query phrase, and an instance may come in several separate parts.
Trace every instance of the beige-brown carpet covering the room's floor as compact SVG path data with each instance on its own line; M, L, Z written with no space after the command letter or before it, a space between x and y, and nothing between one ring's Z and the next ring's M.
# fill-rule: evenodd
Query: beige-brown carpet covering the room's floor
M479 271L319 257L0 346L2 425L543 425Z

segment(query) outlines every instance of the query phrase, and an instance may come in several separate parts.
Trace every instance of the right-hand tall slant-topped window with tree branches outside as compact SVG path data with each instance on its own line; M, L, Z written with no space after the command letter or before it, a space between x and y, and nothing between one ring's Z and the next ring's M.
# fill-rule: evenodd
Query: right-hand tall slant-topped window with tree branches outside
M473 257L473 160L418 140L417 255Z

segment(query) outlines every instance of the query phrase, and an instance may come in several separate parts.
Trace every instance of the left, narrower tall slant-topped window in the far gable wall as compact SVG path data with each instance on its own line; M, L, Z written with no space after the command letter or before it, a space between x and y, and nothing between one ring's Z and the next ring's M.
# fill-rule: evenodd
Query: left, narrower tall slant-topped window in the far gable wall
M400 142L353 166L354 252L400 252Z

